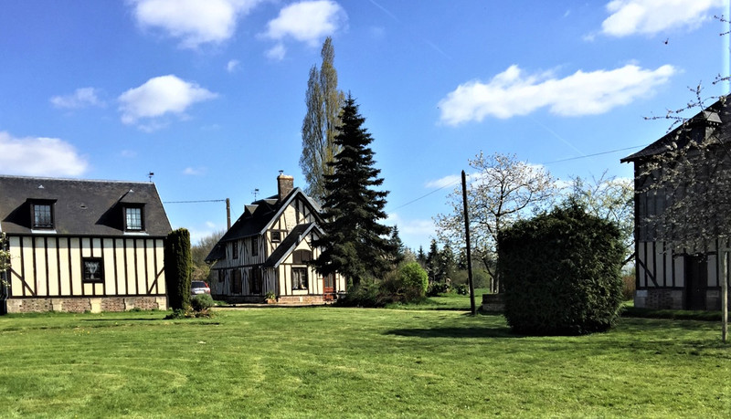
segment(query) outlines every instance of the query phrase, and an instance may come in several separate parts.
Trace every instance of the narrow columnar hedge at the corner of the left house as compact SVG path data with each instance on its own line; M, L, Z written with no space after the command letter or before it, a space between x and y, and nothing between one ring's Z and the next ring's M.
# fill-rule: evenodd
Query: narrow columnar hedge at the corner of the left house
M190 274L193 259L190 253L190 232L178 228L167 235L164 252L167 303L171 309L190 307Z

